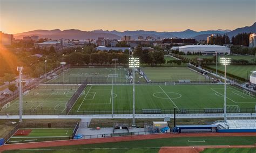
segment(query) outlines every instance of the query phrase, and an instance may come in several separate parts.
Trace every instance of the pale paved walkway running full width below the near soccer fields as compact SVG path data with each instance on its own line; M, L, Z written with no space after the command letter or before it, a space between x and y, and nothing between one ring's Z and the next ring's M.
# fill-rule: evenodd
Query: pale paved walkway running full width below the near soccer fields
M164 119L164 117L173 118L173 114L136 114L136 119ZM197 119L197 118L221 118L224 114L176 114L177 119ZM227 114L227 117L247 117L255 118L256 113L234 113ZM0 119L19 119L18 115L0 115ZM23 119L112 119L111 114L100 115L23 115ZM132 114L114 115L114 119L132 119Z

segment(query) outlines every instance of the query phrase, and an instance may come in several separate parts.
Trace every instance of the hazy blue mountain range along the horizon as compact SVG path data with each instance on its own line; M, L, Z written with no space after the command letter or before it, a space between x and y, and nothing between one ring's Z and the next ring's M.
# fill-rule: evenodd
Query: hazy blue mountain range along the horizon
M109 30L93 30L93 31L81 31L76 29L70 30L33 30L28 32L22 32L14 34L15 39L23 39L24 36L37 35L39 38L51 38L51 39L97 39L98 37L104 37L106 39L120 39L123 36L132 36L132 39L137 39L138 36L151 36L154 38L195 38L196 40L206 40L210 34L227 34L230 38L242 32L256 33L256 22L251 26L239 27L235 30L207 30L207 31L193 31L187 29L179 32L157 32L157 31L109 31Z

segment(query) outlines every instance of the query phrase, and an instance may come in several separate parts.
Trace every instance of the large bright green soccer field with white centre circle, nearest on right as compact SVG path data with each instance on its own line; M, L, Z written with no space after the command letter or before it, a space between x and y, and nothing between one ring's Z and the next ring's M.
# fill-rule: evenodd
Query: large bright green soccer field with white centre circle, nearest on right
M136 85L135 92L137 113L141 113L142 109L173 110L176 107L182 110L224 106L224 85ZM111 93L111 85L87 86L70 114L83 114L86 111L96 114L111 113ZM131 85L114 85L113 98L115 113L132 112ZM239 113L242 108L254 110L255 105L255 96L227 86L227 111Z

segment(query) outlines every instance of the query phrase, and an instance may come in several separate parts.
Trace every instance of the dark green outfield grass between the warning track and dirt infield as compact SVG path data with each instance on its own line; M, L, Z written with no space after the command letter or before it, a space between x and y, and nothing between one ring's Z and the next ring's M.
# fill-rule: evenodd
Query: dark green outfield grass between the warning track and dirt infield
M194 142L192 142L194 141ZM196 142L200 141L200 142ZM201 142L204 141L204 142ZM190 145L254 145L256 137L176 137L154 140L111 142L99 144L71 145L42 148L40 152L158 152L161 147ZM105 148L105 149L104 149ZM49 150L48 150L49 149ZM61 149L61 150L60 150ZM35 149L15 150L15 152L34 152ZM5 151L12 152L12 151Z

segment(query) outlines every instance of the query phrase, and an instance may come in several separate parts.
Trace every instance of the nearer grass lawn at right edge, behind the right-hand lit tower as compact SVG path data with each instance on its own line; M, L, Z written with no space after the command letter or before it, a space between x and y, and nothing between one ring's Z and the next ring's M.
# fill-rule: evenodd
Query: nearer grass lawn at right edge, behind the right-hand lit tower
M216 68L215 65L208 65L212 68ZM217 69L221 70L224 72L224 66L223 65L218 65ZM251 71L256 71L256 65L228 65L226 67L227 73L237 75L238 77L245 78L245 79L250 79L250 72ZM248 75L248 77L247 77Z

